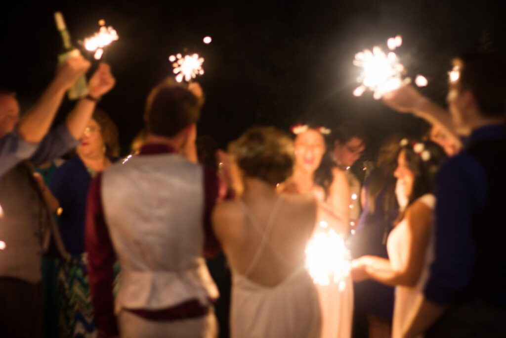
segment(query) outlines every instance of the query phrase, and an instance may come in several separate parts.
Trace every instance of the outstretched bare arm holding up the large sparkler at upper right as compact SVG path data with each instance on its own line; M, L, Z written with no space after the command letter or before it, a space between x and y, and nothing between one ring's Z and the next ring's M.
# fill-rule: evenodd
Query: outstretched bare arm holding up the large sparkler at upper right
M441 128L448 139L458 149L462 147L462 141L451 121L448 112L426 96L423 96L415 88L405 85L383 96L383 102L399 112L411 112L414 116L424 119L433 126Z

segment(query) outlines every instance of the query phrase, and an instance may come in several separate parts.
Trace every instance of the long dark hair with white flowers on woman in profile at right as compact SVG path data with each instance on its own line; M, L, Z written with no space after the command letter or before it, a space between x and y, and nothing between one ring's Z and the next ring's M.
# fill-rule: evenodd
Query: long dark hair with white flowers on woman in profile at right
M408 204L402 210L397 222L404 218L405 210L414 201L425 194L434 192L439 165L447 158L443 148L435 142L410 142L404 139L403 143L399 154L404 152L407 166L414 174L414 180Z

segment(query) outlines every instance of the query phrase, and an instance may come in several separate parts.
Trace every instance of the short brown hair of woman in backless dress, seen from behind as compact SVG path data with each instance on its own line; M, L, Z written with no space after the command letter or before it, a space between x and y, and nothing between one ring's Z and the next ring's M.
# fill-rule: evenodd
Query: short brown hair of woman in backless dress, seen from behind
M246 176L269 184L281 183L293 173L292 141L272 127L248 129L230 144L229 153Z

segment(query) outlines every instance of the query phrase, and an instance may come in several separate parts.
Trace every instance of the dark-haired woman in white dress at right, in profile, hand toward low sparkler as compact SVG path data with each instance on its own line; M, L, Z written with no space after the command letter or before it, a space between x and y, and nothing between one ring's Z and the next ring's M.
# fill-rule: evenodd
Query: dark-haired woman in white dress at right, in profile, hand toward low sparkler
M432 252L432 194L439 164L446 158L434 142L409 142L404 139L398 157L396 193L401 206L399 220L388 237L389 259L362 256L353 261L354 280L372 278L396 286L392 336L401 337L409 312L421 293Z

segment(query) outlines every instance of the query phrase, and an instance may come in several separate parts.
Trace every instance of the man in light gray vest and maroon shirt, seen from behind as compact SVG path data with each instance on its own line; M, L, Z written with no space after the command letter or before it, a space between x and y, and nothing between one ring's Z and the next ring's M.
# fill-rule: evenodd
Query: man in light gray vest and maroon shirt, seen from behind
M210 226L218 178L192 163L201 99L162 83L147 100L138 155L92 181L85 243L99 337L212 338L218 289L204 252L219 249ZM112 264L121 284L112 297Z

